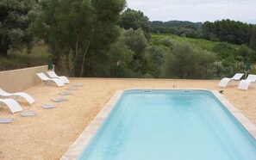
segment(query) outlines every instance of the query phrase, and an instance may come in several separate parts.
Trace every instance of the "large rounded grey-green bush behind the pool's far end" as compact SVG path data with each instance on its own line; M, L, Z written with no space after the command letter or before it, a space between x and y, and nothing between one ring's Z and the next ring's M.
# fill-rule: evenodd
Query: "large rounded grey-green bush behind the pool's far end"
M213 77L213 65L215 56L209 52L193 49L188 43L178 43L168 55L166 55L163 77L172 78L210 78Z

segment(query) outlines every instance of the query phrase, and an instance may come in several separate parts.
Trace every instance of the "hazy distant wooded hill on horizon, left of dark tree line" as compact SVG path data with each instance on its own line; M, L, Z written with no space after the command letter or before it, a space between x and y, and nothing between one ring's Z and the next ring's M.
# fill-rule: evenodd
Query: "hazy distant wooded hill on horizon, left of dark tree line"
M151 28L159 27L169 27L169 28L202 28L203 22L182 22L182 21L169 21L169 22L160 22L153 21L150 22Z

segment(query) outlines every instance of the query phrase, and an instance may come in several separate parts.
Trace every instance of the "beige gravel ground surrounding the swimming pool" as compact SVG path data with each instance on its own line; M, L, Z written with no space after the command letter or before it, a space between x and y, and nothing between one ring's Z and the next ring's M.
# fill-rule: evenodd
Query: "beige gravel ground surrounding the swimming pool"
M73 95L62 96L65 87L38 84L24 92L35 99L31 107L18 99L23 112L34 111L36 116L22 117L11 114L8 108L0 108L0 118L13 118L11 124L0 124L0 159L59 159L83 132L84 128L103 108L118 89L172 88L221 90L216 80L161 80L161 79L108 79L71 78L71 84L83 83ZM256 89L239 90L228 86L223 95L256 126ZM66 102L55 103L51 99L65 97ZM43 104L55 104L57 108L43 109Z

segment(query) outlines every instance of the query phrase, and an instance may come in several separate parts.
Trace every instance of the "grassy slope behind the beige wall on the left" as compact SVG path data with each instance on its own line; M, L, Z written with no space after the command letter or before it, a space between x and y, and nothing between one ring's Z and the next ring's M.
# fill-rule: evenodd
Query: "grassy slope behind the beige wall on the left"
M22 52L10 50L8 58L0 57L0 71L47 65L48 56L47 46L34 46L30 54L26 50Z

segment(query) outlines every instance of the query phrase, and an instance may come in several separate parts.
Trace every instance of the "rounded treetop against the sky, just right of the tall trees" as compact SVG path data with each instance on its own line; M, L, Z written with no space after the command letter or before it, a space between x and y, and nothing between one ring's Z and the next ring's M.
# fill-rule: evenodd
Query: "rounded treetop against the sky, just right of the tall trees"
M140 10L134 10L134 9L126 9L122 13L121 17L121 27L128 30L130 28L133 28L134 30L137 30L139 28L142 28L144 31L145 36L147 39L150 37L149 34L149 19L146 15L143 14Z

